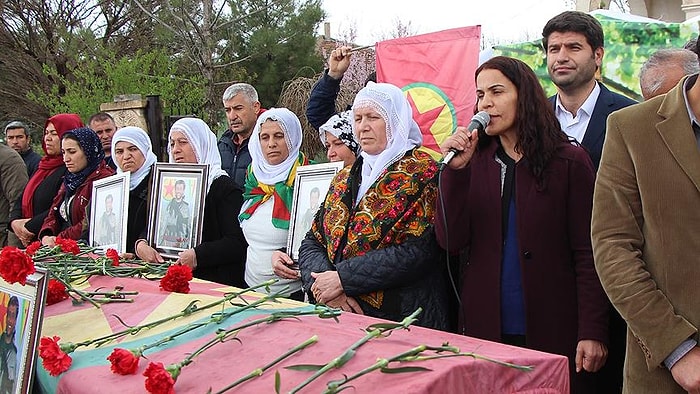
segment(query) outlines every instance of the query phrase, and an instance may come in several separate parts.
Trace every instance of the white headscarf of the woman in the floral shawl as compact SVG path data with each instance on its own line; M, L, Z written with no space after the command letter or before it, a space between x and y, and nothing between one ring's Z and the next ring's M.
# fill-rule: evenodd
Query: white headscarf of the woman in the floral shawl
M401 89L388 83L369 82L355 96L352 104L354 111L360 108L372 108L386 122L386 148L377 155L362 151L362 182L357 193L355 205L367 193L386 168L402 158L407 151L423 144L423 135L418 124L413 120L411 105ZM353 121L353 132L357 140L360 136Z

